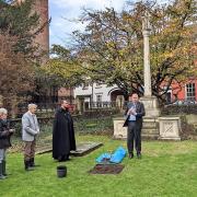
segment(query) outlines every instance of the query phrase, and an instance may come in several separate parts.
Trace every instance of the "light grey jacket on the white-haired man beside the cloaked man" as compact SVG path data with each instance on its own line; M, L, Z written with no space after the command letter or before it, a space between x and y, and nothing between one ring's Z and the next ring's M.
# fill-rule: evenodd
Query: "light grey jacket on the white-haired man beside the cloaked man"
M22 139L33 141L38 134L39 126L36 115L32 116L30 112L26 112L22 117Z

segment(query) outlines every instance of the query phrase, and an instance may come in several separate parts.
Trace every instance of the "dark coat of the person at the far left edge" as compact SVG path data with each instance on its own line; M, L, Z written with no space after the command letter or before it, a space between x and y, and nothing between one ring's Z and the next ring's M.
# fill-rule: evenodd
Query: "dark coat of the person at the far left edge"
M10 137L12 134L9 132L9 120L0 119L0 149L7 149L11 147Z

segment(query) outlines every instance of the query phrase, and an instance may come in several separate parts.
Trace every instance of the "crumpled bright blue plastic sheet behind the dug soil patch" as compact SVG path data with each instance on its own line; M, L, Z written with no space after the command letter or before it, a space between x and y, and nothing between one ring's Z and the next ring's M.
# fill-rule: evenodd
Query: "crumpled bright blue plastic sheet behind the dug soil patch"
M113 154L103 153L97 159L97 163L120 163L123 159L126 157L127 152L123 147L118 147Z

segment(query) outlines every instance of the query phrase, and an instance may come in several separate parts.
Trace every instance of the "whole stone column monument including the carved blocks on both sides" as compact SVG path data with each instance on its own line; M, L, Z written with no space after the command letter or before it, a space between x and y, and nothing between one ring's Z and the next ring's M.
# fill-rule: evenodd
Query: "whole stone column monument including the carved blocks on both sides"
M150 22L149 15L146 13L143 18L143 74L144 74L144 95L140 101L144 104L146 116L143 117L142 138L160 139L160 140L181 140L179 117L159 117L160 109L158 107L158 99L152 95L151 89L151 69L150 69ZM127 128L123 127L124 118L114 118L114 138L126 139Z

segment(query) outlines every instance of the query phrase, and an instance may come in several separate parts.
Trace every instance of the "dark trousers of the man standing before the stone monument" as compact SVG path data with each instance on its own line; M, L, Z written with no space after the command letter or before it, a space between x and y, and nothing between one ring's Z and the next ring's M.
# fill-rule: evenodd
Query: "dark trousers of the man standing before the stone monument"
M127 149L129 153L134 152L134 142L136 152L141 152L141 127L136 121L128 121Z

